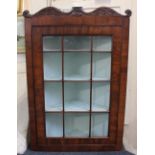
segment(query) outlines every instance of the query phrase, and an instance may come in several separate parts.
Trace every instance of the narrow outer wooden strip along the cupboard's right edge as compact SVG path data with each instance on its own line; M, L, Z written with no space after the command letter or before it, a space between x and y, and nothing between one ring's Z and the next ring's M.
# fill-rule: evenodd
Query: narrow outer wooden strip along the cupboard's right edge
M120 77L120 96L118 111L118 129L116 149L122 148L125 102L126 102L126 86L127 86L127 66L128 66L128 44L129 44L129 18L123 19L122 26L122 51L121 51L121 77Z

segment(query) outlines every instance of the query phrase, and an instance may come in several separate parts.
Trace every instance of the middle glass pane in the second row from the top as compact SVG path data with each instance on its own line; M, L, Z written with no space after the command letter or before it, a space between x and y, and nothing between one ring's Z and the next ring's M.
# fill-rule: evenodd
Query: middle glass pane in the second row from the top
M89 80L90 79L90 53L64 54L64 79Z

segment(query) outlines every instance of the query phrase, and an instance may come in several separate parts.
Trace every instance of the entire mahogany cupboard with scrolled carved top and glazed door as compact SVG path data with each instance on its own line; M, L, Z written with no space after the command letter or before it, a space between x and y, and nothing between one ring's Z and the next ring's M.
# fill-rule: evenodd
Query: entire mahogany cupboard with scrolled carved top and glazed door
M122 148L131 11L125 13L24 11L32 150Z

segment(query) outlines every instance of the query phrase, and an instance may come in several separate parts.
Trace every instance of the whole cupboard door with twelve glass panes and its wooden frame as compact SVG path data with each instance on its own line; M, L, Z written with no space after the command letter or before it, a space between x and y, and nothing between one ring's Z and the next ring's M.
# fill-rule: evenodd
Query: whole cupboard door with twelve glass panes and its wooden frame
M38 144L116 142L121 28L33 28Z

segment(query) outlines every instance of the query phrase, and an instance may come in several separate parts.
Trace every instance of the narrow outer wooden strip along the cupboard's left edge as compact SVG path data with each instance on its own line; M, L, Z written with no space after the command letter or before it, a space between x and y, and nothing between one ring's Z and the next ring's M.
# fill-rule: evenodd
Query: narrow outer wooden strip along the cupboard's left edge
M25 18L25 42L26 42L26 68L27 68L27 87L29 105L29 131L30 145L37 144L36 135L36 111L34 99L34 78L33 78L33 51L32 51L32 29L31 19Z

